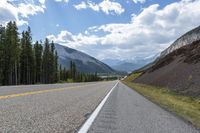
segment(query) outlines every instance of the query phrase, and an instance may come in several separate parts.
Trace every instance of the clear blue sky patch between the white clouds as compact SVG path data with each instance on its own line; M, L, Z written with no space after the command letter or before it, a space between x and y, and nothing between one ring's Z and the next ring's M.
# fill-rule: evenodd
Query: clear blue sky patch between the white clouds
M93 0L100 3L102 0ZM127 23L131 20L131 14L138 14L142 8L151 4L159 3L165 6L174 0L159 2L160 0L149 0L144 3L134 3L131 0L119 0L125 11L120 14L107 15L102 11L95 12L91 9L77 10L74 5L80 4L82 0L69 2L56 2L47 0L45 2L45 12L30 16L29 25L32 28L33 37L36 40L43 39L49 34L58 34L61 30L67 29L73 34L84 32L88 27L98 26L109 23ZM42 32L39 32L42 29Z

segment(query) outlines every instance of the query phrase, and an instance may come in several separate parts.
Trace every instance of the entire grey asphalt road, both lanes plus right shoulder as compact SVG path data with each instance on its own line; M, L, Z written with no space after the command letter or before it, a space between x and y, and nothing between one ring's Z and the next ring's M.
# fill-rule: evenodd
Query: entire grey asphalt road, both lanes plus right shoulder
M78 132L105 96L89 133L199 133L124 84L112 89L116 83L0 87L0 133Z

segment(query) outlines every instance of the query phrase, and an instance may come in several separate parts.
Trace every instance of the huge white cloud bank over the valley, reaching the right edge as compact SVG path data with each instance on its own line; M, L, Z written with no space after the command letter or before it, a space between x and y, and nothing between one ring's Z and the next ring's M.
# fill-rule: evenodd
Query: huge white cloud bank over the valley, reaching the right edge
M129 23L89 27L87 34L62 31L58 35L50 35L49 38L88 52L99 59L147 58L158 54L179 36L199 26L199 7L200 0L174 2L163 8L154 4L137 15L132 14ZM95 34L97 32L104 34L98 36Z

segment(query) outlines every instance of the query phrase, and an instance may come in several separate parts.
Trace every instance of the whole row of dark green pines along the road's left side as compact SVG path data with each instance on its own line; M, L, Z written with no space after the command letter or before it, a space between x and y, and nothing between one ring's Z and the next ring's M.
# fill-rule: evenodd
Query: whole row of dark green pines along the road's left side
M56 83L70 80L100 80L97 74L84 74L70 62L67 70L58 63L54 42L32 42L31 29L18 33L15 22L0 26L0 85Z

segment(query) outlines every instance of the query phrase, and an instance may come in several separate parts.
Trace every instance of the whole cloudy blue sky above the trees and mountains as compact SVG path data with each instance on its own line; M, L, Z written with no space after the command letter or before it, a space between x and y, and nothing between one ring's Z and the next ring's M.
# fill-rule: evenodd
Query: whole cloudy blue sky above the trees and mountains
M200 25L200 0L0 0L0 24L31 27L99 60L152 58Z

